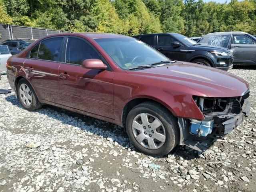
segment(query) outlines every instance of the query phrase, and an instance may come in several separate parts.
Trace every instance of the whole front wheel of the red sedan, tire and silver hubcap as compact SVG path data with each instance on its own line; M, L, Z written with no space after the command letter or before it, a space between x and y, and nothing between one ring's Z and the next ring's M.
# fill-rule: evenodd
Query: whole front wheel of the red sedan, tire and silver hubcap
M160 104L144 102L135 106L126 119L130 142L145 154L162 156L178 141L178 124Z

